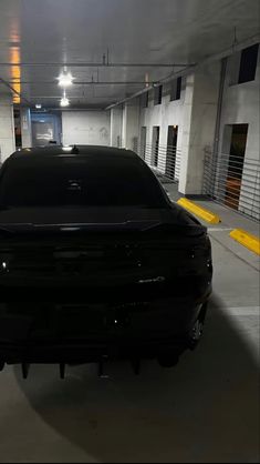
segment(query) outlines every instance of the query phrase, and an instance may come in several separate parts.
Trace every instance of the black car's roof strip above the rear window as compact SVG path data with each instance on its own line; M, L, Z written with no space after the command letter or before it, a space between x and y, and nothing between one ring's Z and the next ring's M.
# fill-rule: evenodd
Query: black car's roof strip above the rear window
M23 157L123 157L128 159L139 158L134 151L103 145L48 145L24 148L15 151L10 158Z

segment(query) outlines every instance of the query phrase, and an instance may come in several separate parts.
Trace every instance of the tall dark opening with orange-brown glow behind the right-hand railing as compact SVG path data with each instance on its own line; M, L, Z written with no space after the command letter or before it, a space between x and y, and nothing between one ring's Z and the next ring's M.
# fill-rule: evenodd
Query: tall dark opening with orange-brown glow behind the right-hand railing
M243 173L243 161L247 145L248 124L231 124L227 179L225 186L225 204L238 210Z

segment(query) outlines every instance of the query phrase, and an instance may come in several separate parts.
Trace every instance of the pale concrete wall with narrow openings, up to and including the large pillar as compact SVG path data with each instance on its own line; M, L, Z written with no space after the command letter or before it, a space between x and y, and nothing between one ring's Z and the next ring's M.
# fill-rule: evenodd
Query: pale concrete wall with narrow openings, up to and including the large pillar
M160 104L154 104L150 92L148 108L141 109L141 128L146 127L146 161L153 164L153 127L158 125L158 169L165 172L168 127L178 127L175 179L179 179L179 192L201 194L204 160L212 152L220 63L200 69L181 79L180 99L170 101L170 85L163 87Z

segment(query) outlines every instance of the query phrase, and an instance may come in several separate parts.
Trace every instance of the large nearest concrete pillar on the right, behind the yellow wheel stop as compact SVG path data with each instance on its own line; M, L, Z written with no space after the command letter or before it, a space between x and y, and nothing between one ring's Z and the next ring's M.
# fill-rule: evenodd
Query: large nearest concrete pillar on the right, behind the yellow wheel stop
M212 152L220 81L220 62L186 79L179 192L201 194L204 160Z

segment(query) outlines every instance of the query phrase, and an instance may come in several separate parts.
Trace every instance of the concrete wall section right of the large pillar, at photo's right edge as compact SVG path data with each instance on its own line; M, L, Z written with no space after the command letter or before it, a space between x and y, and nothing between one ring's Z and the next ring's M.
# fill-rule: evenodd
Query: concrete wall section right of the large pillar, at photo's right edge
M227 153L225 147L225 131L227 124L249 124L245 153L243 176L240 190L239 210L248 213L252 209L254 216L259 218L260 194L260 49L258 52L258 67L256 79L250 82L233 84L237 75L237 61L239 53L230 57L225 79L223 101L220 123L219 150ZM235 72L236 71L236 72ZM235 78L233 78L235 77Z

